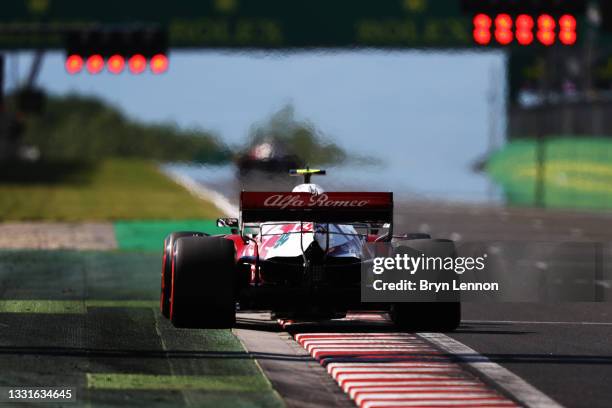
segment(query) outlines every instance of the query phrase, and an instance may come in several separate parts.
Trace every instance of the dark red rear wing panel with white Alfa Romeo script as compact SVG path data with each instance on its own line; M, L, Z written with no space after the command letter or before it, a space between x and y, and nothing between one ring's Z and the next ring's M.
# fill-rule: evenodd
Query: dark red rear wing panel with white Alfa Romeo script
M386 223L393 221L393 193L243 191L240 211L243 222Z

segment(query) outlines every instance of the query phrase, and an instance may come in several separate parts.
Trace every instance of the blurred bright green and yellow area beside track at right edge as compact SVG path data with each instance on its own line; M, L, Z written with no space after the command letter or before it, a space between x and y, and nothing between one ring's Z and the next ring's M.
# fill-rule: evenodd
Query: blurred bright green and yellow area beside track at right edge
M550 208L612 209L612 139L557 137L546 141L544 204ZM495 153L488 174L508 204L535 204L536 141L516 140Z

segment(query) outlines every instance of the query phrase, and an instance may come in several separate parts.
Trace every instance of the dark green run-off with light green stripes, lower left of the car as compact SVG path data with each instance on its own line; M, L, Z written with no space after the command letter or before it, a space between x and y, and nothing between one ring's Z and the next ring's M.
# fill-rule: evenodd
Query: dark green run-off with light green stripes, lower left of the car
M75 406L92 408L283 407L231 330L160 316L160 267L161 251L0 250L0 318L17 328L0 330L16 348L0 355L0 383L48 384L59 372Z

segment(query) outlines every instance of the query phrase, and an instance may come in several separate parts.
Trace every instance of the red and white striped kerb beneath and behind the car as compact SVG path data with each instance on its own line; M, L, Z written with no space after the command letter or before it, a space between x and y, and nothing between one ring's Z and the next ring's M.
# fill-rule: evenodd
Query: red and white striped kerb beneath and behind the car
M334 331L345 322L365 330ZM299 322L280 323L360 408L520 406L480 380L460 359L431 344L434 336L443 335L394 331L384 314L349 313L325 332L312 332L308 325L300 328Z

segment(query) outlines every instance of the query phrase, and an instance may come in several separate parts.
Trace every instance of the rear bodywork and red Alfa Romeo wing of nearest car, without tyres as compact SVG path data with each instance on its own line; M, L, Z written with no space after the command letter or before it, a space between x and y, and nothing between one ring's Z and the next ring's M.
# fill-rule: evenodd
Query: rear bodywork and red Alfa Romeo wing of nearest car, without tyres
M391 239L393 193L242 192L237 225L223 222L241 308L342 312L363 307L362 251Z

